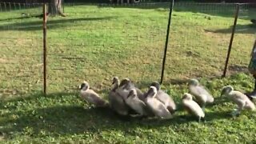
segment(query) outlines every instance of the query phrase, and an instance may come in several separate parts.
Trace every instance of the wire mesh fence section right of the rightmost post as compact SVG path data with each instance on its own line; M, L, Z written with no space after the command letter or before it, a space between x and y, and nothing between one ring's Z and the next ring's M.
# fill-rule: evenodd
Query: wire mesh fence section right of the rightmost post
M240 5L238 14L238 22L235 29L233 42L233 51L230 56L230 70L247 71L247 66L250 62L250 53L256 39L256 24L251 22L256 19L256 4ZM229 33L227 30L219 30L220 33Z

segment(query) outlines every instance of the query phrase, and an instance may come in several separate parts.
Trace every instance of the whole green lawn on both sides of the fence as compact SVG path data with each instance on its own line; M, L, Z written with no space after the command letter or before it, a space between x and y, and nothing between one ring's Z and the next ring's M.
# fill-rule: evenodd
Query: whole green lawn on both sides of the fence
M199 78L216 99L206 109L205 123L195 122L182 109L169 121L122 119L78 97L77 86L83 79L104 98L116 75L131 78L144 91L159 80L168 18L165 8L66 6L66 18L49 18L47 97L41 94L42 19L21 18L22 13L40 14L41 9L0 13L0 142L255 142L256 114L245 111L231 118L234 104L219 98L222 86L253 89L246 66L255 38L249 21L254 14L243 10L238 18L230 76L220 78L233 13L222 13L223 6L214 6L214 11L202 8L174 10L162 89L179 106L187 91L186 79Z

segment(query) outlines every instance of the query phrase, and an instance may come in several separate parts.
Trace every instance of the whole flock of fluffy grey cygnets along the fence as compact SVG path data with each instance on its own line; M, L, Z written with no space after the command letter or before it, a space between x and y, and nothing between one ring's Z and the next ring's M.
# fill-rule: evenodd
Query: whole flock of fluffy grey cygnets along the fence
M189 93L182 95L182 106L189 113L198 118L198 122L205 121L205 106L213 103L214 97L200 85L197 79L190 79ZM161 90L158 82L152 82L149 89L143 93L129 78L124 78L120 82L118 77L113 78L112 88L108 95L108 101L102 99L94 90L90 89L88 82L84 81L79 86L80 94L86 102L98 106L108 106L115 113L127 116L158 117L161 119L174 118L177 110L174 99ZM242 110L255 110L254 103L242 92L234 90L232 86L224 86L221 96L226 95L238 108L232 112L237 116ZM196 101L194 101L193 96Z

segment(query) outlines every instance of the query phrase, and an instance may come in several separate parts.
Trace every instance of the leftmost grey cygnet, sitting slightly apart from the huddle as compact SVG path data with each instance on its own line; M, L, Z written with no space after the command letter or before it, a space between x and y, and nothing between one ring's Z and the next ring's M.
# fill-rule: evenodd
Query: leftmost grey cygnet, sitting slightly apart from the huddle
M95 93L94 90L90 90L90 85L88 82L82 82L79 87L81 98L86 100L86 102L89 102L90 104L98 107L108 106L107 102L99 97L99 95Z

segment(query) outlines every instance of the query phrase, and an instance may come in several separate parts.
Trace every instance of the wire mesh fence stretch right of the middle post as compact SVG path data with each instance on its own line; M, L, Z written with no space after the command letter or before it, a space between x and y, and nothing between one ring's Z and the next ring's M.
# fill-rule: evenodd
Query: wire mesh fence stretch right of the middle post
M175 3L166 79L221 76L237 4ZM246 71L254 42L254 4L241 4L228 67ZM254 14L253 14L254 13ZM241 27L242 25L242 27ZM241 31L240 29L244 31ZM247 31L247 32L246 32ZM249 32L249 33L248 33ZM177 56L178 55L178 56Z

